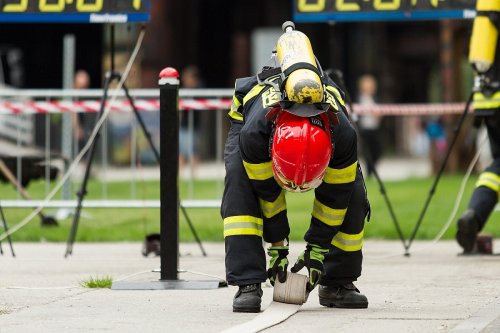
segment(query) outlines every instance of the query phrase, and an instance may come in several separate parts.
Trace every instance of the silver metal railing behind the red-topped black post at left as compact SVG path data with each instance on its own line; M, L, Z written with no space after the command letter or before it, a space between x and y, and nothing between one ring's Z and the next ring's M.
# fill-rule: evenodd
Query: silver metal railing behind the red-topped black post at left
M108 96L115 94L114 91L108 92ZM158 89L131 89L131 96L134 98L140 115L145 115L147 112L155 112L159 116L159 90ZM232 89L180 89L179 104L180 111L198 110L197 112L213 112L214 126L212 130L215 136L215 156L213 162L217 168L221 168L221 176L223 175L223 141L224 141L224 121L225 113L230 104L230 98L233 94ZM23 175L23 164L28 163L27 158L35 155L37 159L45 165L43 173L45 183L45 194L51 191L51 184L55 180L51 178L51 166L59 161L61 172L66 172L68 163L73 161L74 156L78 153L77 142L73 135L71 125L71 114L84 113L95 114L100 107L100 99L103 91L100 89L75 90L75 89L0 89L0 128L2 124L9 131L0 131L4 145L0 144L0 158L15 159L15 177L17 180L26 179ZM111 105L111 115L116 113L129 113L130 105L124 103L125 94L123 91L116 93L117 104ZM153 118L156 117L154 114ZM188 117L188 133L189 137L193 137L192 133L195 130L193 127L193 112L187 112ZM122 116L120 116L122 117ZM18 121L22 118L22 122ZM41 118L41 119L40 119ZM53 123L54 119L61 121L60 134L55 137ZM140 200L137 199L136 184L139 178L138 170L144 169L141 166L141 159L138 151L137 129L140 127L137 124L137 119L132 117L128 124L130 129L130 153L127 169L130 181L130 199L115 200L108 197L107 184L109 182L106 176L108 169L113 167L110 162L109 142L109 119L101 128L100 145L100 174L102 174L101 182L101 199L100 200L85 200L84 207L95 208L112 208L112 207L130 207L130 208L147 208L159 207L159 200ZM16 122L17 121L17 122ZM40 124L41 123L41 124ZM156 124L158 122L156 121ZM34 129L43 133L33 135ZM159 129L156 129L159 130ZM54 143L60 144L60 149L55 149ZM159 144L159 143L158 143ZM189 143L189 147L192 147ZM3 150L3 151L2 151ZM191 155L192 156L192 155ZM62 161L62 163L61 163ZM156 162L155 162L156 163ZM98 166L99 167L99 166ZM195 178L192 160L188 161L188 181L189 191L183 200L182 204L185 207L198 207L197 202L201 206L215 206L217 200L193 200L193 179ZM123 167L121 169L124 169ZM159 166L155 165L150 168L153 172L154 179L159 179ZM52 173L53 174L53 173ZM39 207L42 200L27 199L22 195L22 185L17 184L17 198L0 198L0 204L3 207ZM219 185L222 187L222 184ZM45 207L60 207L74 208L76 205L76 197L71 198L71 184L64 184L62 191L62 200L51 200Z

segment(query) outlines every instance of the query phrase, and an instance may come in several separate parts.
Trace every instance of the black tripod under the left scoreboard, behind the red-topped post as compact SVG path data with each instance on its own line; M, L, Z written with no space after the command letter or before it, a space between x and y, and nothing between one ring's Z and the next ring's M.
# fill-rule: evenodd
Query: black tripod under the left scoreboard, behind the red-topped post
M98 117L96 120L96 124L99 122L99 120L104 115L106 102L108 100L108 91L109 91L109 87L110 87L111 83L115 80L120 81L122 78L121 74L115 71L115 63L114 63L115 30L114 30L113 24L111 24L111 26L110 26L110 38L111 38L111 45L110 45L111 46L111 50L110 50L111 69L105 75L105 80L104 80L104 85L103 85L103 97L101 99L101 105L99 108L99 113L98 113ZM127 97L128 101L130 103L130 106L132 107L132 111L134 112L134 115L135 115L136 119L138 120L139 125L141 126L142 132L144 133L144 136L146 137L148 144L151 147L151 149L155 155L157 163L160 164L160 154L153 143L153 140L151 138L151 134L148 132L144 121L142 120L141 116L139 115L139 111L137 110L135 103L134 103L134 100L133 100L132 96L130 95L129 90L128 90L127 86L125 85L125 83L123 83L122 89L123 89L125 96ZM77 192L78 203L77 203L75 213L73 216L73 223L71 225L71 230L70 230L70 234L69 234L68 241L67 241L65 257L68 257L73 252L73 244L74 244L75 238L76 238L76 232L77 232L78 223L80 220L83 199L84 199L85 195L87 194L87 183L88 183L88 179L90 176L90 170L92 168L92 162L93 162L93 158L94 158L94 154L95 154L95 150L96 150L96 146L97 146L97 142L98 142L99 137L100 137L100 132L97 132L95 140L92 142L92 145L90 146L89 152L88 152L87 157L86 157L85 173L84 173L84 177L83 177L83 181L82 181L80 190ZM183 210L183 212L186 215L184 210ZM189 227L191 228L191 231L194 234L194 237L196 238L196 241L198 242L198 244L201 247L203 255L206 255L205 250L203 249L203 246L201 245L200 239L198 238L198 235L194 231L194 227L192 226L191 221L189 219L187 219L187 221L188 221Z

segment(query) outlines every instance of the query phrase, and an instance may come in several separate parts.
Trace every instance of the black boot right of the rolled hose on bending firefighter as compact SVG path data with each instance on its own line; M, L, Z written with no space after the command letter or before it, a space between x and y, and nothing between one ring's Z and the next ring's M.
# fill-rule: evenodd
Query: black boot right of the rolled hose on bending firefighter
M319 286L319 304L330 308L364 309L368 299L352 283L342 286Z

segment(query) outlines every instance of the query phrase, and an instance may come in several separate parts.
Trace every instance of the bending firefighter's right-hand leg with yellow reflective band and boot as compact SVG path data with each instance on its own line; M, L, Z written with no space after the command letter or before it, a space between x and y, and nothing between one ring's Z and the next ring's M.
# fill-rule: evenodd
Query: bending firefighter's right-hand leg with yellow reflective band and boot
M324 275L319 286L320 304L328 307L366 308L368 300L354 286L361 275L363 232L369 203L358 169L347 213L325 256Z

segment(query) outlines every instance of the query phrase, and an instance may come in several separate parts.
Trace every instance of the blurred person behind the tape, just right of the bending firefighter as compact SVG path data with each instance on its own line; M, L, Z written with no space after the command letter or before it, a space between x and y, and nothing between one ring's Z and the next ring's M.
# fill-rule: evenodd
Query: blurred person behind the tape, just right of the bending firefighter
M377 80L369 74L361 76L358 80L358 103L374 105L377 93ZM382 143L380 140L380 123L382 116L364 114L359 118L359 134L361 136L362 152L366 159L367 175L370 176L382 156Z

